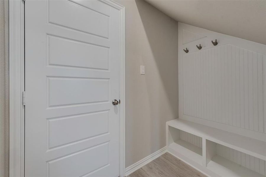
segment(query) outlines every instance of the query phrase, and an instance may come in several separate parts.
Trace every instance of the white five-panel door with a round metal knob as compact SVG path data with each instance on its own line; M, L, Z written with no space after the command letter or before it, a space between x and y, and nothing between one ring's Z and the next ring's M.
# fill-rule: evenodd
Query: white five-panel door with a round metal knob
M119 176L119 10L25 2L25 176Z

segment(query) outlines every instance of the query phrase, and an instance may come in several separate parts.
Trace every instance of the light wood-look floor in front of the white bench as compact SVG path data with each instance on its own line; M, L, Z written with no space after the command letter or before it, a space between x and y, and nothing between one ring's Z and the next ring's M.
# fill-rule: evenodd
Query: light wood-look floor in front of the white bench
M206 177L169 153L165 153L127 177Z

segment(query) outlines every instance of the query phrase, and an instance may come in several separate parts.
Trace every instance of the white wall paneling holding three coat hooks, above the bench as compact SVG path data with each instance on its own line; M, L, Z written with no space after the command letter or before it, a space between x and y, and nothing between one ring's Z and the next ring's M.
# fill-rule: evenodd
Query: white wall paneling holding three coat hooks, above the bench
M178 40L179 118L266 141L266 45L183 23Z

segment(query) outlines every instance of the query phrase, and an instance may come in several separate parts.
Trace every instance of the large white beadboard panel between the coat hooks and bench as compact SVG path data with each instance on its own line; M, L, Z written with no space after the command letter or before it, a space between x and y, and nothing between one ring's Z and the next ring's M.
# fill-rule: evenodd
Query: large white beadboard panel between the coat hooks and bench
M184 114L266 133L266 56L226 44L183 55Z

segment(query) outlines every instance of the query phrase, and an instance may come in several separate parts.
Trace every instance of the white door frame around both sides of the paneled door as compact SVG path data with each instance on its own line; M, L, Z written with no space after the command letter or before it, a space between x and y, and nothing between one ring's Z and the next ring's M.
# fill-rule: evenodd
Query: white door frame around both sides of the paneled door
M27 1L27 0L26 0ZM120 11L119 175L125 176L125 7L99 0ZM27 3L27 2L25 2ZM9 1L9 176L24 177L24 2Z

